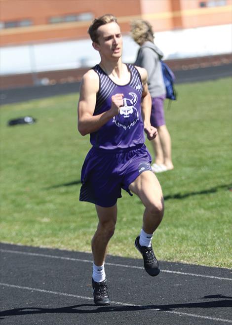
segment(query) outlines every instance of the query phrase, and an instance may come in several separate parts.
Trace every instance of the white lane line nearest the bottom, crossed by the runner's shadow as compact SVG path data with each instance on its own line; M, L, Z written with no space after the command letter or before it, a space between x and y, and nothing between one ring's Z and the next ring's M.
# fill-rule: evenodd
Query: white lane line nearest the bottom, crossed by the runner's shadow
M93 300L93 298L90 298L90 297L78 296L76 294L65 293L65 292L57 292L57 291L51 291L51 290L45 290L45 289L31 288L29 286L21 286L21 285L15 285L15 284L7 284L7 283L0 283L0 285L6 286L6 287L11 287L11 288L16 288L16 289L24 289L24 290L30 290L30 291L38 291L38 292L44 292L44 293L57 294L57 295L66 296L66 297L74 297L74 298L84 299L84 300L91 300L91 301ZM141 308L140 310L144 310L144 311L145 310L146 311L147 310L161 311L161 312L165 312L165 313L176 314L176 315L179 315L179 316L195 317L195 318L201 318L201 319L204 319L204 320L211 320L211 321L217 321L217 322L224 322L224 323L232 324L231 320L227 320L227 319L223 319L223 318L216 318L216 317L210 317L210 316L201 316L201 315L196 315L196 314L182 313L182 312L176 312L176 311L173 311L173 310L162 310L160 308L152 308L152 307L149 307L149 306L128 304L128 303L120 302L120 301L111 301L111 303L115 304L115 305L121 305L121 306L127 306L127 307L139 307L139 308ZM96 307L96 306L93 305L93 307Z

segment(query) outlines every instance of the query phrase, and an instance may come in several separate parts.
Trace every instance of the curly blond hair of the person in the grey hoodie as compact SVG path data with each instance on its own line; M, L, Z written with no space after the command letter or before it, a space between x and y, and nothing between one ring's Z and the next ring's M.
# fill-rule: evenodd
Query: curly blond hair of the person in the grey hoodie
M131 36L142 45L145 41L154 42L154 31L152 25L146 20L134 20L131 23Z

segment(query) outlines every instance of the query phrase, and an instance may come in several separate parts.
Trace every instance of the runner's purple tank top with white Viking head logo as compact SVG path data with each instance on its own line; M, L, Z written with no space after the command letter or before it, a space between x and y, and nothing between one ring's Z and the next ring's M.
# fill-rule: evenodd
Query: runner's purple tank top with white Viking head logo
M99 91L93 115L111 108L111 97L123 93L123 107L117 116L104 124L98 131L90 133L90 142L95 148L125 149L142 145L145 142L144 123L141 115L141 96L143 84L138 70L127 64L130 81L123 86L117 85L97 64L92 69L99 76Z

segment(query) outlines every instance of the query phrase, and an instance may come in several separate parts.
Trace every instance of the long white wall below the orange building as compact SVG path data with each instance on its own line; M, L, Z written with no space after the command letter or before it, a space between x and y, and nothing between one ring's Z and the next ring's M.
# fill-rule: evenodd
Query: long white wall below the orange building
M155 43L164 59L180 59L232 52L232 25L199 27L155 33ZM138 45L123 36L123 62L133 63ZM90 40L63 41L0 48L0 74L14 75L91 67L99 54Z

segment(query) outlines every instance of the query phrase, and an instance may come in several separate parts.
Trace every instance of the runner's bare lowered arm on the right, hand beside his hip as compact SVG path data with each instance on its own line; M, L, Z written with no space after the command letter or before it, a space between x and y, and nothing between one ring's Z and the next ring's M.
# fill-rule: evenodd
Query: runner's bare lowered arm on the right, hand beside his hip
M141 111L144 121L144 131L147 134L149 140L155 139L157 135L157 129L151 125L151 111L152 111L152 98L148 90L148 74L144 68L136 67L141 76L143 82L143 93L141 100Z

